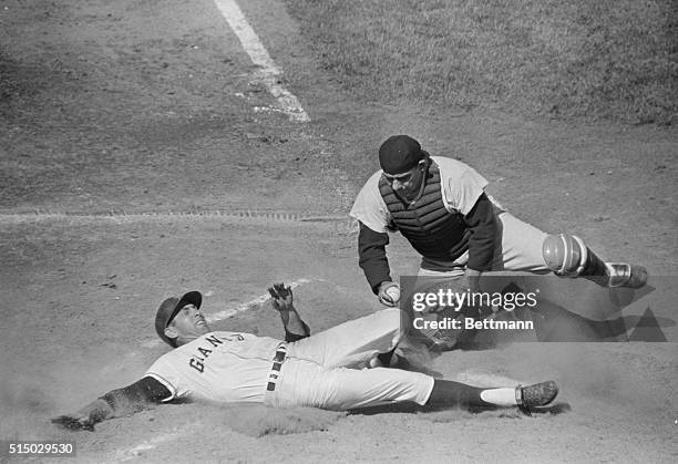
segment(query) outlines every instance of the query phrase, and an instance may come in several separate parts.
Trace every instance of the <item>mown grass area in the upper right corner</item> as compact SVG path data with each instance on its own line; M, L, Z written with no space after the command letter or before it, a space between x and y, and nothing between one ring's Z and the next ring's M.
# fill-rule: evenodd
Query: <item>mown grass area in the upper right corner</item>
M676 123L671 0L285 0L360 97L552 118Z

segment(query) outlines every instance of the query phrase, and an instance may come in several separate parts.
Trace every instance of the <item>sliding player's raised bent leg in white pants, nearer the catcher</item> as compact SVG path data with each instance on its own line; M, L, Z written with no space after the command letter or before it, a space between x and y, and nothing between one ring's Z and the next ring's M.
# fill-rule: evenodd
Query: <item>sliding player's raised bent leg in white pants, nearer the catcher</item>
M326 368L366 367L396 348L407 324L407 316L398 308L384 309L290 343L289 355Z

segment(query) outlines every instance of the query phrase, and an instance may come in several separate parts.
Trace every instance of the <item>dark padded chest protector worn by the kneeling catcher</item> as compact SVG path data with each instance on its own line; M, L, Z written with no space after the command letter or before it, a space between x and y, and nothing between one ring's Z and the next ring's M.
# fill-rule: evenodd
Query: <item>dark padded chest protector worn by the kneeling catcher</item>
M379 179L379 192L393 224L417 251L427 258L453 261L469 248L471 233L462 214L445 208L435 162L431 162L425 182L421 198L413 204L398 198L384 176Z

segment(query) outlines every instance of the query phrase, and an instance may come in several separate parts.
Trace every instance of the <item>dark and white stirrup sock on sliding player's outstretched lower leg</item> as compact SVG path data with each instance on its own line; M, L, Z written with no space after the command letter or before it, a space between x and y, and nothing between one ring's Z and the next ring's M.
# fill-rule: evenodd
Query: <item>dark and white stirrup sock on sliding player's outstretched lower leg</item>
M480 389L452 380L435 379L428 406L510 406L515 405L515 389Z

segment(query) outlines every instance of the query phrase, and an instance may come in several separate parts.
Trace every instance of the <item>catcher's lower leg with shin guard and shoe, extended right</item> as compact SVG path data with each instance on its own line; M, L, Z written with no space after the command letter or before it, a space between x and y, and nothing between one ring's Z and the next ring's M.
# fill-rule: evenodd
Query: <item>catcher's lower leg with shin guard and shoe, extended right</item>
M544 261L564 277L584 277L604 287L643 287L647 270L625 262L607 264L576 235L549 235L542 246Z

